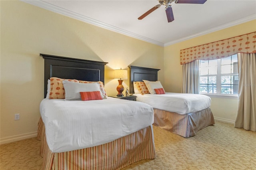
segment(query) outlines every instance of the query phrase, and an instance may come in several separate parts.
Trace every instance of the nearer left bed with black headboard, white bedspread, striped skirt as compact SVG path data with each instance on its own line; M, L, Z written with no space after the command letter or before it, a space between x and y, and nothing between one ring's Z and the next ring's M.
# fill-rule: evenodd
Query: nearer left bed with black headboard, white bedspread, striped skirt
M115 170L155 158L154 115L149 105L107 96L89 101L49 99L50 77L68 80L62 81L65 89L66 84L80 86L81 81L95 87L97 82L104 83L105 62L40 56L44 58L45 99L40 104L37 139L41 140L42 169ZM79 82L70 82L74 79Z

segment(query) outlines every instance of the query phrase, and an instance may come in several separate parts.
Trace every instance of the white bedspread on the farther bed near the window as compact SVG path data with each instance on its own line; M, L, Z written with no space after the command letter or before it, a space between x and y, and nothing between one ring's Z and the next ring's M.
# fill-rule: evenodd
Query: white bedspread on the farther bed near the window
M187 93L133 95L137 96L137 101L147 103L154 109L161 109L180 114L195 113L203 109L207 109L211 105L211 98L206 95Z

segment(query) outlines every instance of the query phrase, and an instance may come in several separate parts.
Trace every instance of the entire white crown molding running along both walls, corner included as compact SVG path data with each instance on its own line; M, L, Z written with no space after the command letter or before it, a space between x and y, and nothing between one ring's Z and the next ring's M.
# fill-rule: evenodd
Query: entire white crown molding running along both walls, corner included
M244 22L249 22L251 20L256 20L256 16L255 15L251 15L251 16L242 18L240 20L236 20L234 22L230 22L230 23L227 23L227 24L224 24L224 25L221 25L221 26L217 26L217 27L211 28L209 30L205 30L203 32L198 32L196 34L180 38L178 40L174 40L174 41L167 42L167 43L162 43L162 42L158 42L156 40L152 40L150 38L146 38L144 36L140 36L138 34L134 34L132 32L129 32L129 31L117 28L115 26L111 26L109 24L105 24L103 22L100 22L98 20L94 20L92 18L83 16L81 14L77 14L75 12L72 12L72 11L60 8L58 6L54 6L52 4L49 4L49 3L41 1L41 0L20 0L20 1L26 2L28 4L32 4L34 6L38 6L40 8L44 8L46 10L50 10L52 12L56 12L56 13L64 15L64 16L68 16L68 17L76 19L76 20L80 20L82 22L86 22L88 24L92 24L94 26L99 26L101 28L105 28L107 30L114 31L114 32L117 32L117 33L120 33L120 34L124 34L126 36L130 36L132 38L136 38L138 40L142 40L142 41L145 41L145 42L148 42L148 43L152 43L152 44L155 44L155 45L159 45L159 46L162 46L162 47L166 47L168 45L172 45L172 44L175 44L175 43L183 42L183 41L186 41L186 40L189 40L189 39L192 39L192 38L196 38L198 36L203 36L205 34L216 32L216 31L219 31L219 30L223 30L225 28L236 26L236 25L242 24Z

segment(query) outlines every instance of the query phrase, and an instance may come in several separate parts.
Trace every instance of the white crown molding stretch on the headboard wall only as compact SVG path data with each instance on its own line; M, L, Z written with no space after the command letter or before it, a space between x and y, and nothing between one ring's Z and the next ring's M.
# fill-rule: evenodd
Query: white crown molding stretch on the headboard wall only
M105 24L105 23L100 22L98 20L94 20L92 18L83 16L81 14L77 14L75 12L72 12L72 11L60 8L58 6L54 6L52 4L49 4L49 3L41 1L41 0L20 0L20 1L26 2L28 4L32 4L34 6L38 6L40 8L44 8L46 10L50 10L52 12L55 12L55 13L58 13L58 14L61 14L61 15L64 15L64 16L68 16L68 17L76 19L76 20L80 20L82 22L86 22L88 24L99 26L101 28L105 28L105 29L110 30L110 31L114 31L114 32L117 32L117 33L120 33L120 34L124 34L126 36L130 36L130 37L133 37L133 38L145 41L145 42L149 42L149 43L152 43L152 44L160 45L162 47L164 46L164 43L158 42L156 40L152 40L150 38L146 38L144 36L140 36L138 34L134 34L132 32L129 32L129 31L117 28L115 26L111 26L109 24Z

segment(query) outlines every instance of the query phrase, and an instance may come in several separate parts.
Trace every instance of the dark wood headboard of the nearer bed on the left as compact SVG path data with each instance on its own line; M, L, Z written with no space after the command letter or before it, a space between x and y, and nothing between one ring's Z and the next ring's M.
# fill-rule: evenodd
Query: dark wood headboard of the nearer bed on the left
M102 81L106 62L75 59L56 55L40 54L44 58L44 97L47 93L47 81L50 77L77 79L84 81Z

